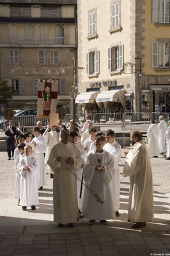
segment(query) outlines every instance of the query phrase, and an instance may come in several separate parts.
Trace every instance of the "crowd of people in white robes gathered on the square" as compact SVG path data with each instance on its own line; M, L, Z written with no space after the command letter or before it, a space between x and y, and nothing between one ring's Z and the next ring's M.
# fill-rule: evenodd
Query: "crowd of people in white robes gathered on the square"
M166 154L166 159L170 159L170 120L168 124L167 128L164 116L159 117L158 125L151 121L146 134L148 148L141 132L132 132L134 147L124 152L127 157L123 175L130 177L128 221L135 222L132 228L146 227L146 221L153 221L150 156ZM107 220L120 216L118 164L122 148L114 131L97 132L89 119L82 131L78 125L73 127L73 120L68 127L61 122L47 124L46 129L40 121L36 125L33 134L22 132L20 125L13 153L14 197L23 211L27 207L36 210L38 190L47 184L49 174L53 178L54 221L59 227L73 227L75 221L84 217L90 225L96 221L107 224ZM12 126L10 121L8 133L13 131Z

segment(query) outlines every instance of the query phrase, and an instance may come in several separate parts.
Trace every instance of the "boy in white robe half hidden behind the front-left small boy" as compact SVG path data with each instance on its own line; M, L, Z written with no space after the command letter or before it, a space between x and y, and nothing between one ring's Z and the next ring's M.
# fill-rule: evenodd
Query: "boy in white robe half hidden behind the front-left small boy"
M17 157L15 159L15 164L13 169L15 170L15 189L14 189L14 198L18 198L19 202L18 205L20 205L20 172L18 169L19 163L22 159L22 157L24 157L24 147L26 146L25 143L19 143L17 145L17 148L15 148L15 150L17 150Z

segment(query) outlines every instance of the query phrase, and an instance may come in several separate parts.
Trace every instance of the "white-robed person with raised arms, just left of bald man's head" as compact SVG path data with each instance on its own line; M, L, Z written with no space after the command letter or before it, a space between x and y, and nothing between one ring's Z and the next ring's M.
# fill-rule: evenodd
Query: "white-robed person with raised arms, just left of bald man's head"
M47 172L50 174L50 178L53 177L52 169L50 168L49 164L47 164L47 161L50 156L50 150L52 147L59 143L59 132L56 131L57 125L50 125L50 123L47 125L47 129L45 132L43 132L43 136L47 140L47 151L45 153L45 166L47 168Z

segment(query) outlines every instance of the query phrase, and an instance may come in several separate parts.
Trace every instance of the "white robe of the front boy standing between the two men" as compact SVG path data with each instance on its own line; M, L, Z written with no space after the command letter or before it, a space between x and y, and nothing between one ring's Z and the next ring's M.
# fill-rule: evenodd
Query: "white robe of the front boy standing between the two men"
M105 170L95 170L96 166L105 166ZM84 180L104 200L104 204L97 202L95 196L91 194L88 188L85 188L82 215L89 220L108 220L114 218L111 188L114 172L114 160L111 154L105 150L102 153L95 152L95 150L88 153L83 166Z

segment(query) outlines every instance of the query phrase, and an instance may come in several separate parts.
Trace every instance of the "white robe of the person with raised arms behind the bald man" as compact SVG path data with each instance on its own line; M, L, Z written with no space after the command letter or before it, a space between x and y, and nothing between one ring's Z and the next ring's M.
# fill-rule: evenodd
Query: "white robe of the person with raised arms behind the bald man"
M59 143L59 132L56 132L56 131L50 131L46 133L45 132L43 133L43 136L47 141L47 151L45 153L45 165L48 170L48 173L52 173L52 169L50 168L49 164L47 164L47 161L50 156L50 150L54 145Z

